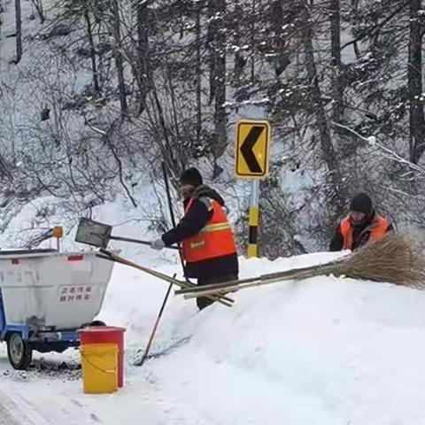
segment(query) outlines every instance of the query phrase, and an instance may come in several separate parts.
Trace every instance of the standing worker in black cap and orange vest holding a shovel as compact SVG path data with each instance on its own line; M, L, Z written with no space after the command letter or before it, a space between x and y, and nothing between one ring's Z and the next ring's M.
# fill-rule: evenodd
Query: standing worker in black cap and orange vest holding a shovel
M151 248L162 250L182 243L186 277L196 278L198 285L236 280L236 243L223 198L203 184L196 168L184 171L180 183L184 216L175 228L154 240ZM197 298L199 309L212 303L210 298Z

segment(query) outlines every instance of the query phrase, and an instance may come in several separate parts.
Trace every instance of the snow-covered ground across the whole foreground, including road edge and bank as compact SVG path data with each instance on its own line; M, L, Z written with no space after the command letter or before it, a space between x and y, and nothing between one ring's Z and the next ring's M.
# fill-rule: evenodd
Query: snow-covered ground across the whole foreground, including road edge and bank
M243 275L257 275L334 257L241 263ZM177 266L160 269L174 274ZM165 292L164 282L114 268L99 318L128 328L119 393L84 395L76 351L37 355L22 373L2 347L0 406L36 425L425 423L425 293L321 277L243 290L232 308L201 313L174 296L152 347L158 357L134 367Z

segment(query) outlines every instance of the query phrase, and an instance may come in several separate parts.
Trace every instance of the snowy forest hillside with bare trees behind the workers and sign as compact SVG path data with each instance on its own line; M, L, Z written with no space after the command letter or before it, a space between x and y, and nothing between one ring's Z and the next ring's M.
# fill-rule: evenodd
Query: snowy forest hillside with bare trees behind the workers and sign
M165 161L173 182L193 165L223 192L242 247L243 117L272 124L263 255L327 249L361 189L398 228L424 228L421 3L0 0L0 231L42 197L15 245L116 197L161 231Z

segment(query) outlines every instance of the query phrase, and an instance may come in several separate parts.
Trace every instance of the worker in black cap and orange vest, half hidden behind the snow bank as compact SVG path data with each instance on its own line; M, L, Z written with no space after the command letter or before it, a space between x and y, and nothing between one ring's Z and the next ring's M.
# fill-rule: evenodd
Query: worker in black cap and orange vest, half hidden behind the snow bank
M393 230L390 220L375 213L372 199L366 193L352 198L350 213L342 220L330 243L330 251L354 251Z

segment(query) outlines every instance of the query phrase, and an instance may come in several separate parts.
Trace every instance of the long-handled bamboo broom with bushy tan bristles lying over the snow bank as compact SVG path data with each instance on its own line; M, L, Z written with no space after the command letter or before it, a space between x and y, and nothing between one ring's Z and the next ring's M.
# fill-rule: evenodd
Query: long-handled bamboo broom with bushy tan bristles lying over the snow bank
M367 243L343 259L321 266L265 274L259 278L247 279L239 283L205 285L201 288L176 291L176 293L184 293L184 298L189 299L327 274L375 282L389 282L423 290L425 289L424 270L425 257L421 244L413 236L391 233L375 242Z

